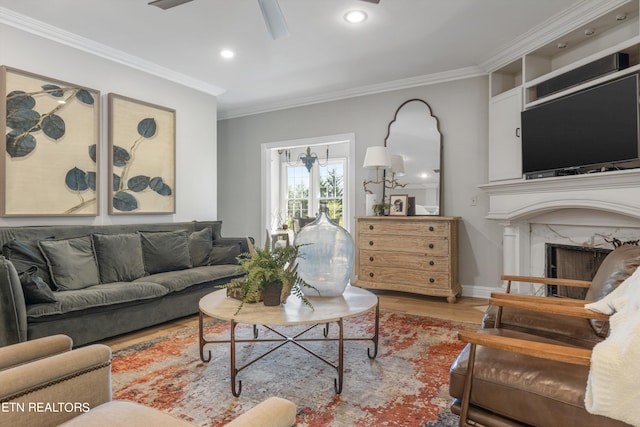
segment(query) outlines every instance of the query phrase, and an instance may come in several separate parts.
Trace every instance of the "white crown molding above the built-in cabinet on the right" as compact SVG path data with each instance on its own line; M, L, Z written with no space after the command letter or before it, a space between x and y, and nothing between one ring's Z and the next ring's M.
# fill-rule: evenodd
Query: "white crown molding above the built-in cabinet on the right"
M630 1L637 0L582 0L575 3L489 55L479 66L485 72L498 69Z

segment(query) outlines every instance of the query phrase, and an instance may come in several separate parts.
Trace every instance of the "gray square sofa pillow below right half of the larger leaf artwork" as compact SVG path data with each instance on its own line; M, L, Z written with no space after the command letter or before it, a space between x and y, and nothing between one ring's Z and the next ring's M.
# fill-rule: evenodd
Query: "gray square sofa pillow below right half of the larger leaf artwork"
M84 289L100 283L91 236L39 240L38 246L58 290Z

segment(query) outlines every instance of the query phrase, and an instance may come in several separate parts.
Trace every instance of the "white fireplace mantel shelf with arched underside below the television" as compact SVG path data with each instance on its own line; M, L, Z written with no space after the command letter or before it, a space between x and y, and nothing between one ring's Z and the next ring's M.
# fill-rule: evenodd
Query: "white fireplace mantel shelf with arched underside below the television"
M640 169L480 185L488 219L519 221L558 209L593 209L640 219Z

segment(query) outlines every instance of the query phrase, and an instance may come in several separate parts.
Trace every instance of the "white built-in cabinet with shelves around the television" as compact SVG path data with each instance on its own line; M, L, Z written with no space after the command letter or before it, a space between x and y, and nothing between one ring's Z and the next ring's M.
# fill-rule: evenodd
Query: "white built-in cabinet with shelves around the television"
M523 179L520 113L607 81L640 72L639 0L612 1L602 13L490 73L489 181ZM614 53L629 67L537 98L537 86Z

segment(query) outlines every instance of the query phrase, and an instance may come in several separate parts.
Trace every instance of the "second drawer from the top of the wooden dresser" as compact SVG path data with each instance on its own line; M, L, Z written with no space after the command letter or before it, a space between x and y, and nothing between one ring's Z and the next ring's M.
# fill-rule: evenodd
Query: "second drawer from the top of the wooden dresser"
M446 237L361 235L358 239L358 249L448 255L449 239Z

